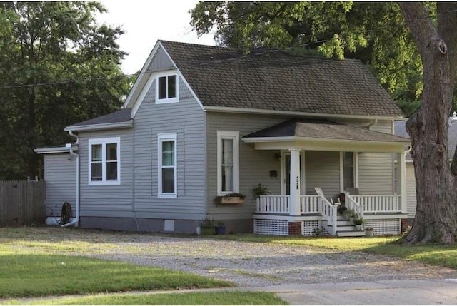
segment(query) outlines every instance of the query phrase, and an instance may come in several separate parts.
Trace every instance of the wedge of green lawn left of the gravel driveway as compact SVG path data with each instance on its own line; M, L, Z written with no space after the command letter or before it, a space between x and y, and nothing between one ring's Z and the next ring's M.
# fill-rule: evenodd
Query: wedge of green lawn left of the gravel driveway
M0 297L230 286L186 272L82 256L0 248Z

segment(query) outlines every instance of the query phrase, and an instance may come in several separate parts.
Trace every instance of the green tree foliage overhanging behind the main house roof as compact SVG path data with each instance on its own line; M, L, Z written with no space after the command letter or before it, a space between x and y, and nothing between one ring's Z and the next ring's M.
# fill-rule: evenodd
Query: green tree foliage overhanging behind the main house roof
M191 10L191 25L199 35L215 28L219 44L246 52L299 46L361 59L393 98L403 101L407 116L416 109L408 103L417 105L421 98L420 56L395 3L199 2Z

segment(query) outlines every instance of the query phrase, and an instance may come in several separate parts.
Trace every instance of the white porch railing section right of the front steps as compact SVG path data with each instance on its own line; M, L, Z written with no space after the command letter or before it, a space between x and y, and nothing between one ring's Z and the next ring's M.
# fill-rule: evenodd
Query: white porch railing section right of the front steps
M363 206L365 213L401 212L401 195L350 195L350 197Z

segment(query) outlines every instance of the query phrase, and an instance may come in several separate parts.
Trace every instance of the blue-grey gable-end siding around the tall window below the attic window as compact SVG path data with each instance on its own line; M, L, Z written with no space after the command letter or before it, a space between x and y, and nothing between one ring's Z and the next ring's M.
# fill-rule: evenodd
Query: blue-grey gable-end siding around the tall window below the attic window
M155 81L134 118L134 203L147 218L201 220L206 213L204 112L179 79L178 103L155 103ZM158 198L157 134L177 133L177 198Z

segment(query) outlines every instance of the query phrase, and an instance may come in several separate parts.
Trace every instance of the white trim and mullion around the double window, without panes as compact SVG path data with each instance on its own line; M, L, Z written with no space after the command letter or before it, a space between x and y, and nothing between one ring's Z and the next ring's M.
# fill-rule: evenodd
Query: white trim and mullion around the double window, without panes
M106 180L106 144L116 143L117 180ZM92 145L101 145L101 177L102 180L92 180ZM121 185L121 138L91 138L89 139L89 185Z

